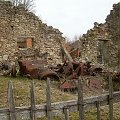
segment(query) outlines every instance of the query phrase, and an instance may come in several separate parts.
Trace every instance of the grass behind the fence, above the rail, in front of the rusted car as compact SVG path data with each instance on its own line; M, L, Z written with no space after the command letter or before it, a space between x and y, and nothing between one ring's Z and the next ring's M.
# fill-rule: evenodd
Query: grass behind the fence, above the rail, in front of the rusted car
M0 108L7 107L7 88L11 80L14 86L15 106L30 105L30 80L25 77L0 77ZM52 102L76 99L77 96L71 93L64 93L57 88L58 82L52 83L51 96ZM34 79L36 104L46 103L46 82Z

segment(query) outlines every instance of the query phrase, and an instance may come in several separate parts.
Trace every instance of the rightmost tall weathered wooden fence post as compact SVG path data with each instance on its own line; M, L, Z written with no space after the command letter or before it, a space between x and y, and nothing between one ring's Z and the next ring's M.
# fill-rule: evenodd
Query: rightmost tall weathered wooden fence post
M113 120L113 83L112 76L109 74L109 117Z

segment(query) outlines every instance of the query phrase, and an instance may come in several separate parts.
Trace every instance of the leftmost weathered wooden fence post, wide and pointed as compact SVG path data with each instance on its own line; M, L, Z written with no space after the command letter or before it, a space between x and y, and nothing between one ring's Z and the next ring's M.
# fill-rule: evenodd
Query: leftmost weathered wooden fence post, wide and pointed
M16 120L15 113L15 100L14 100L14 92L13 92L13 84L12 81L8 82L8 106L10 111L10 120Z

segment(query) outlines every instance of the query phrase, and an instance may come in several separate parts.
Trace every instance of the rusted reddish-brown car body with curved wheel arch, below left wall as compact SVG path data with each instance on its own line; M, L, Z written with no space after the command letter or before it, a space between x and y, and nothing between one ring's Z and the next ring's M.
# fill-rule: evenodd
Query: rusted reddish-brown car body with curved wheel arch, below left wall
M46 79L53 77L59 79L56 72L47 67L46 60L19 60L20 75L27 75L29 78Z

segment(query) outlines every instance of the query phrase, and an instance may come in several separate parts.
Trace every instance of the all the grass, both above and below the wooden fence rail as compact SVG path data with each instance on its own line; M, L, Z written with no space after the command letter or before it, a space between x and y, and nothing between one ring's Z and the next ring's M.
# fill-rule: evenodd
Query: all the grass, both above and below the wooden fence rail
M25 77L0 77L0 108L8 107L7 104L7 87L11 80L14 86L15 106L29 106L30 105L30 80ZM36 104L46 103L46 82L44 80L34 79ZM77 95L71 93L64 93L57 88L58 82L52 82L52 102L66 101L77 99ZM96 108L90 108L85 111L84 120L96 120ZM53 120L62 120L62 117L54 117ZM47 120L47 118L40 118L38 120ZM78 113L70 113L70 120L79 120ZM101 120L109 120L109 108L101 107ZM114 120L120 120L120 103L114 105Z

